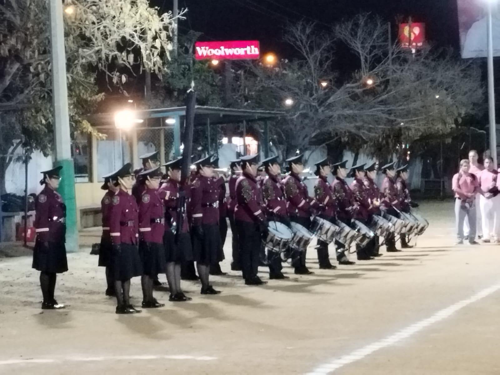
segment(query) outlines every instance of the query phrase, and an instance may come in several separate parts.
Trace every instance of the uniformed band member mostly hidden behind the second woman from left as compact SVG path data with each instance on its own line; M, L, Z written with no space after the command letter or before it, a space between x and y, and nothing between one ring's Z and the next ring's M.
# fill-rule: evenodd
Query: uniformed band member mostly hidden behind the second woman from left
M114 279L111 274L110 258L111 258L111 236L109 235L109 213L111 212L111 199L119 190L119 186L115 186L109 180L109 177L115 172L104 176L104 183L100 187L102 190L107 190L100 201L100 212L102 214L102 235L99 246L98 266L105 267L106 270L106 295L114 296Z

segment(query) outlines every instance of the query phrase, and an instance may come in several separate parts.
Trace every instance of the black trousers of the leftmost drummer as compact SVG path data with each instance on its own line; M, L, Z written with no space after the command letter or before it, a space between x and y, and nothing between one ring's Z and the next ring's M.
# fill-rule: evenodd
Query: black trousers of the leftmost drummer
M239 258L243 278L251 280L257 277L258 254L261 248L261 233L258 224L254 222L235 220L239 238Z

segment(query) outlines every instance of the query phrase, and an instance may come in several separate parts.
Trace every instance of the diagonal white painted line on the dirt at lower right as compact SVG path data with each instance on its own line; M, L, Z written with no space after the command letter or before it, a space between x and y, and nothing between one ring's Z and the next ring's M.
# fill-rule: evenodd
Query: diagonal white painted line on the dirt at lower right
M481 298L484 298L485 296L494 293L500 289L500 283L492 285L486 289L483 289L479 291L478 293L472 295L470 298L463 299L461 301L458 301L454 304L452 304L449 307L443 308L442 310L437 311L435 314L432 316L417 321L414 324L411 324L407 326L406 328L403 328L396 333L387 336L381 340L375 341L369 345L366 345L360 349L354 350L349 354L343 355L339 358L331 358L331 360L320 364L317 366L314 370L311 372L307 372L306 375L324 375L327 373L331 373L337 369L339 369L342 366L345 366L346 364L355 362L359 359L364 358L365 356L373 353L376 350L382 349L386 346L390 346L395 344L398 341L401 341L405 338L408 338L409 336L419 332L423 328L428 327L429 325L436 323L440 320L443 320L447 317L449 317L451 314L454 312L458 311L459 309L467 306L470 303L476 302Z

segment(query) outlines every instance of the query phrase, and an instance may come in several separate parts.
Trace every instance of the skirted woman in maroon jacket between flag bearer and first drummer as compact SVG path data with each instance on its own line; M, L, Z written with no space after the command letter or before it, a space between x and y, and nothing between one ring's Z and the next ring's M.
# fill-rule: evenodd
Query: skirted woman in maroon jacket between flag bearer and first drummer
M209 283L210 264L220 260L218 229L219 188L213 179L212 156L194 163L197 176L191 186L191 235L194 260L201 280L201 294L219 294Z

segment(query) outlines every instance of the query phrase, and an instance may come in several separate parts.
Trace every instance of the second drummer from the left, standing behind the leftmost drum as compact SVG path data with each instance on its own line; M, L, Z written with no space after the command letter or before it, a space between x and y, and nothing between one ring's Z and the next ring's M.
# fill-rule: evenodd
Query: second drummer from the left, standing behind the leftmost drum
M267 220L275 220L290 226L290 219L286 211L286 200L283 194L283 186L279 181L281 168L277 162L277 156L268 157L262 160L267 176L262 182L262 197ZM269 279L288 278L281 270L281 256L272 251L267 252L267 261L269 265Z

